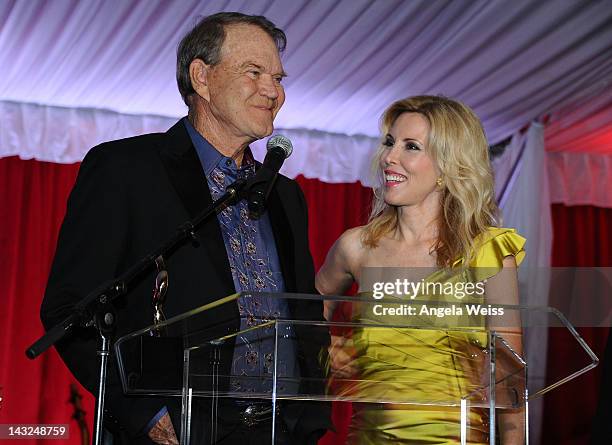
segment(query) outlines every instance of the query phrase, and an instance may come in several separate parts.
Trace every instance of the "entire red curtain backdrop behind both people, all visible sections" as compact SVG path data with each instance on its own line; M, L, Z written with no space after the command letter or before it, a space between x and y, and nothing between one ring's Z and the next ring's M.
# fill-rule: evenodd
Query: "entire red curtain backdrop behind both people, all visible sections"
M26 359L25 348L39 335L38 310L55 248L65 204L78 164L60 165L0 159L0 423L69 423L71 439L79 443L71 420L69 384L74 381L54 350L35 361ZM310 241L316 267L320 267L332 243L347 228L367 219L371 192L360 184L326 184L299 177L309 206ZM553 206L554 266L611 266L612 244L608 227L612 209ZM601 354L606 334L582 329L581 334ZM554 337L549 347L549 372L564 357L563 344ZM601 368L599 368L601 369ZM549 394L545 405L544 437L550 444L586 444L590 419L601 381L600 370L581 377L567 388ZM81 389L87 419L93 421L93 397ZM565 406L576 406L571 411ZM350 405L337 404L338 431L328 433L322 444L342 443ZM38 441L36 443L46 443ZM55 442L48 441L50 444ZM28 441L21 443L27 444ZM29 441L34 443L34 441Z

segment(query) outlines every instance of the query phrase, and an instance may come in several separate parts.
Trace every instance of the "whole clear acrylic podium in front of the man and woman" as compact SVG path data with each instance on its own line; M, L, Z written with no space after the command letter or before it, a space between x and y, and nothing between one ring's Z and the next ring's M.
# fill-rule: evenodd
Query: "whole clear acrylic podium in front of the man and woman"
M240 327L210 322L223 305L268 298L350 305L350 315L326 322L249 313ZM551 327L567 331L584 361L533 387L523 335ZM283 407L296 401L352 402L351 443L374 417L405 419L399 428L409 436L440 413L449 443L528 443L529 401L598 362L553 308L263 293L231 295L124 336L115 353L126 394L180 400L181 444L215 443L220 406L235 404L249 422L250 403L262 401L269 409L256 421L269 423L271 444L284 443ZM308 375L306 359L318 360L321 373Z

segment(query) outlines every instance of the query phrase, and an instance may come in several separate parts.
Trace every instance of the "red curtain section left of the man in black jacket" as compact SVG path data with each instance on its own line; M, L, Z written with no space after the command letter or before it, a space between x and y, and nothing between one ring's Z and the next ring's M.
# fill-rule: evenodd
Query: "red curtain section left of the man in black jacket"
M43 333L38 318L57 233L78 165L0 159L0 423L70 424L69 441L79 444L71 420L70 383L55 350L35 361L25 349ZM93 422L93 397L80 388L87 418ZM20 443L56 444L57 440Z

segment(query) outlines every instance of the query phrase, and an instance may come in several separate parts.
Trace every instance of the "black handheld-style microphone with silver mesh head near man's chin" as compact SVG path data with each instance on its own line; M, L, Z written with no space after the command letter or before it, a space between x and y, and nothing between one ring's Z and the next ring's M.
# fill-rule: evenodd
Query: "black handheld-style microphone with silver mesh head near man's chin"
M263 215L276 175L285 159L293 152L293 145L289 138L280 134L268 139L266 147L268 149L266 158L253 177L248 192L249 213L253 218Z

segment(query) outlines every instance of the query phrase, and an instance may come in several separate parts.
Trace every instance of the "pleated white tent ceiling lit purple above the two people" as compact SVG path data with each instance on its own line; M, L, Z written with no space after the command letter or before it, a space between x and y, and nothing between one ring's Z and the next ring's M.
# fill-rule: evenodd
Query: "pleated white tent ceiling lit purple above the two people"
M281 128L375 136L392 101L439 93L496 142L612 80L605 1L3 0L0 100L184 115L175 48L220 10L286 30Z

